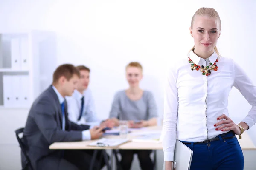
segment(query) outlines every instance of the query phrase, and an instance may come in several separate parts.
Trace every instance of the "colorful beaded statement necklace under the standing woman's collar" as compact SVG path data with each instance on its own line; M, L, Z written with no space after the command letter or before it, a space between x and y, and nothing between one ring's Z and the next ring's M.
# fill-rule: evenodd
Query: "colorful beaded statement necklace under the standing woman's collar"
M216 59L216 62L218 62L218 58ZM191 70L199 70L202 72L203 75L209 76L212 74L212 70L217 71L218 70L218 66L216 65L216 62L214 62L213 64L210 63L210 65L207 66L200 66L200 65L196 65L189 57L189 63L191 63Z

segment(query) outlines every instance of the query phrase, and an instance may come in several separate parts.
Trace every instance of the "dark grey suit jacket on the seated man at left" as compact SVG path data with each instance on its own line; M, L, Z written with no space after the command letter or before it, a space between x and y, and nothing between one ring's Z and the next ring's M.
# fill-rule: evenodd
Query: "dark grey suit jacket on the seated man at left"
M87 125L77 125L70 122L67 116L65 101L65 131L62 130L62 113L58 96L50 86L45 90L30 108L23 132L23 141L31 159L32 166L38 169L37 163L49 156L61 158L61 150L49 150L54 142L81 141L82 130L89 129ZM22 156L23 157L23 156ZM22 158L24 163L24 157ZM52 167L58 167L58 161L51 162ZM44 169L40 167L40 169ZM54 168L53 168L54 169Z

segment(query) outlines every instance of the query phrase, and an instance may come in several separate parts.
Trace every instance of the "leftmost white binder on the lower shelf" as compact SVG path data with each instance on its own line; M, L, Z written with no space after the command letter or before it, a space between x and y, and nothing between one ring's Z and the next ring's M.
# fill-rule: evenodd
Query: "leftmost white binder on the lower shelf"
M4 107L12 107L14 98L12 96L12 76L3 75L3 105Z

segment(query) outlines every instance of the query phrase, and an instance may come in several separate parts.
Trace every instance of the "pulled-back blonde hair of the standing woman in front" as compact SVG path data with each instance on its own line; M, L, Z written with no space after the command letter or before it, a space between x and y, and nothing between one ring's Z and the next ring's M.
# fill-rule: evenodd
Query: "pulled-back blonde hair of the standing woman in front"
M198 9L192 17L191 26L190 26L191 28L193 27L193 23L194 23L196 15L216 18L220 23L220 30L221 30L221 18L219 16L218 12L215 11L215 9L213 9L213 8L204 8L204 7ZM195 45L189 50L189 52L192 51L194 48L195 48ZM221 54L219 53L216 46L214 47L214 50L216 51L216 54L218 55L218 57L220 57Z

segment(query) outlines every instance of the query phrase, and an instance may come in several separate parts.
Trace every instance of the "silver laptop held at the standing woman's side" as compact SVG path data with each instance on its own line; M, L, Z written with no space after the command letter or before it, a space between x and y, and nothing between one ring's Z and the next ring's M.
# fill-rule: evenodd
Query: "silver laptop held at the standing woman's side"
M193 150L176 140L173 160L173 170L189 170L193 156Z

